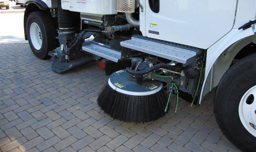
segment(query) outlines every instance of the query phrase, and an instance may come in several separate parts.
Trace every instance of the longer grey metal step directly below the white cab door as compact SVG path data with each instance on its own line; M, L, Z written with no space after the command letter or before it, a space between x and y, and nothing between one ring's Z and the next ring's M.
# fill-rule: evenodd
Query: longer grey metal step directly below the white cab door
M133 50L152 54L154 56L166 58L176 62L185 64L187 60L196 56L196 52L180 47L166 45L146 39L132 37L132 39L120 42L121 46L128 47Z

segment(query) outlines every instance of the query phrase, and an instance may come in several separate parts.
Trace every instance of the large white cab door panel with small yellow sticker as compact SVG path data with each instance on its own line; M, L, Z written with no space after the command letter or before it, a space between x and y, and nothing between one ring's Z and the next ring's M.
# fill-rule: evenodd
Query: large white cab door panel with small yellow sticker
M233 27L236 2L236 0L160 0L160 11L154 13L147 1L146 35L207 49ZM155 31L156 34L151 34L148 30Z

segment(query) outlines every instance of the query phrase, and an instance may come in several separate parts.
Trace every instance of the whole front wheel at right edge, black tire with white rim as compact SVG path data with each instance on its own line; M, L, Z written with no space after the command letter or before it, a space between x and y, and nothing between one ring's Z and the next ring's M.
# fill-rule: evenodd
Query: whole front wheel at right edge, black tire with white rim
M215 93L219 128L242 151L256 149L256 53L231 66Z

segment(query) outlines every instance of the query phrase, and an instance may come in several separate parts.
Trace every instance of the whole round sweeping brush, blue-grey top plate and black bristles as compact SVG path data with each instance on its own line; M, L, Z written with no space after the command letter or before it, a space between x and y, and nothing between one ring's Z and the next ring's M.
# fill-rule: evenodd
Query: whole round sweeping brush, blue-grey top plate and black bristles
M110 76L97 102L114 119L144 123L163 117L167 100L161 82L143 81L137 84L127 72L118 71Z

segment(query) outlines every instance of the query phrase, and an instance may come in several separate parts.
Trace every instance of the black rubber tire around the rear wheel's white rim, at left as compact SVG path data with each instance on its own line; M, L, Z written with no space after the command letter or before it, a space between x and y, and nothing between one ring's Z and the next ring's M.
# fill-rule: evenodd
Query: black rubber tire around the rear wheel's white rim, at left
M36 23L41 31L41 48L36 47L37 45L33 45L34 40L31 41L30 27L32 23ZM45 59L49 50L56 48L57 28L54 26L52 17L43 11L32 12L27 18L26 29L32 52L36 57Z

